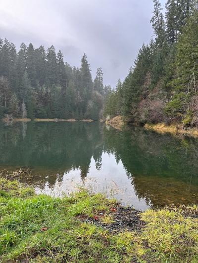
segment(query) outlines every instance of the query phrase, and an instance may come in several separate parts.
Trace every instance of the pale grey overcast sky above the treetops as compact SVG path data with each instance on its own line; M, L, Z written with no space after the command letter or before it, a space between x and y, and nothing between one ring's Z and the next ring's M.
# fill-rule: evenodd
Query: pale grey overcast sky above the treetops
M86 53L93 78L101 67L114 87L153 35L152 9L152 0L0 0L0 37L17 50L21 42L53 44L71 66Z

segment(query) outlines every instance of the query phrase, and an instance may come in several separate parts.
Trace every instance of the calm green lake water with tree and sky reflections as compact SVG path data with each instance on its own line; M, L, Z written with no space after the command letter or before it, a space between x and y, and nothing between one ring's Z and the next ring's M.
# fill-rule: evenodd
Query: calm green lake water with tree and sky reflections
M0 170L54 196L79 186L144 210L198 204L198 140L98 122L0 123ZM4 172L4 171L3 171Z

